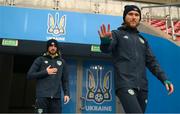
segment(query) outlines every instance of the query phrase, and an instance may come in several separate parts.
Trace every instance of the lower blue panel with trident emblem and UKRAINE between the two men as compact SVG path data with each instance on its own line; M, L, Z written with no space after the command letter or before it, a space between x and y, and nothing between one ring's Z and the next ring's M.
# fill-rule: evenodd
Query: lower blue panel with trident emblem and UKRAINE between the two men
M114 71L112 64L86 61L83 65L82 113L115 113Z

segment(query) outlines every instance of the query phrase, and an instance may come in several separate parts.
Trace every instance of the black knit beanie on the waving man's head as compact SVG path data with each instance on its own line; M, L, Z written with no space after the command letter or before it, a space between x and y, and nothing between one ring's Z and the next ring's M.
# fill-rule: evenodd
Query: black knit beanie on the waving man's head
M126 15L130 11L137 11L139 13L139 15L140 15L140 20L141 20L141 10L137 6L135 6L135 5L126 5L126 6L124 6L124 13L123 13L123 20L124 20L124 22L125 22Z

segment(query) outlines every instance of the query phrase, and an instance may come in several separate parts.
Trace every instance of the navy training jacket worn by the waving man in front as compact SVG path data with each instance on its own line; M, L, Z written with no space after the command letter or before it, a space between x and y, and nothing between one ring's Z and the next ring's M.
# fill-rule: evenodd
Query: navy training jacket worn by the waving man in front
M112 37L109 43L101 40L100 49L112 53L116 90L123 87L147 90L146 67L164 84L167 77L137 29L121 26L112 30Z

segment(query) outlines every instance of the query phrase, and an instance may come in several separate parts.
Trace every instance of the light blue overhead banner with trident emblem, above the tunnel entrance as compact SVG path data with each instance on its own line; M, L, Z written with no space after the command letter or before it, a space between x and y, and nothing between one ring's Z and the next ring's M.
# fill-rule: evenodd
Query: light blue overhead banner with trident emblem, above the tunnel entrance
M99 44L98 29L102 24L116 29L122 23L120 16L42 10L18 7L0 7L0 37L10 39Z

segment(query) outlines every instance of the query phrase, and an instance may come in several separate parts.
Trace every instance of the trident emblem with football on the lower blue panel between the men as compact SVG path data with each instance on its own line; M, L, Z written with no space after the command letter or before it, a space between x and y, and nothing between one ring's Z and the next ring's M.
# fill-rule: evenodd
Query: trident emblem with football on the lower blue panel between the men
M103 103L110 101L111 95L111 77L112 71L103 72L102 66L92 66L87 70L87 100L94 101L95 103ZM104 73L104 74L103 74ZM95 80L96 77L96 80Z

